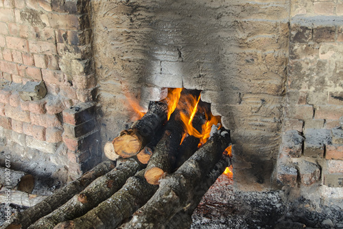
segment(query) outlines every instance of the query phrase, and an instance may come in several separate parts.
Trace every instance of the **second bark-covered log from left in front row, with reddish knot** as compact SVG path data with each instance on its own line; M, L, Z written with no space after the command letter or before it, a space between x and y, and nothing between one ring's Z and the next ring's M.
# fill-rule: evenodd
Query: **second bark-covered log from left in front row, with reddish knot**
M117 160L117 166L112 171L95 179L81 193L74 195L60 208L33 223L29 229L52 229L62 221L81 217L117 192L129 177L142 168L143 164L137 162L134 157Z

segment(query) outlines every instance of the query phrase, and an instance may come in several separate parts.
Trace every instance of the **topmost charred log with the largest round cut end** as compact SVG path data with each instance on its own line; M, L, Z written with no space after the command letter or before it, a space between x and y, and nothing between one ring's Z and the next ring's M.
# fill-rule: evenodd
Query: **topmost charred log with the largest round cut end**
M113 140L115 153L124 158L139 153L152 140L154 133L163 126L167 120L167 112L167 100L150 102L150 107L143 118L134 122L130 129L121 131Z

